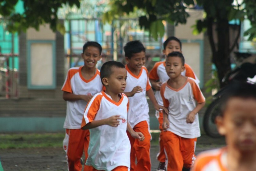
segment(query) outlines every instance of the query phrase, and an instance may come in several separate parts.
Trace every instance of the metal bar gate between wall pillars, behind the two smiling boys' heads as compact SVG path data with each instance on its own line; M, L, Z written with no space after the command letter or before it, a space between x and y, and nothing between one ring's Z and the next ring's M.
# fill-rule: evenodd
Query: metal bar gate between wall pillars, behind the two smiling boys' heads
M102 59L98 68L109 60L124 63L123 46L131 40L140 40L146 47L147 63L150 68L152 61L160 61L162 57L162 40L155 41L149 32L141 30L137 18L115 20L112 25L103 24L100 18L65 20L65 51L67 66L81 66L82 47L87 41L96 41L102 46Z

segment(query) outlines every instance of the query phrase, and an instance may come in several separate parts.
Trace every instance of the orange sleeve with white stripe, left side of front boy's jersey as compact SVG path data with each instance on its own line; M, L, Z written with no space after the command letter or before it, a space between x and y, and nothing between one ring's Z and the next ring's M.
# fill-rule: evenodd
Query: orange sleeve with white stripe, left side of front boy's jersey
M84 117L82 118L81 128L89 122L92 122L100 108L101 99L103 95L94 96L85 107Z

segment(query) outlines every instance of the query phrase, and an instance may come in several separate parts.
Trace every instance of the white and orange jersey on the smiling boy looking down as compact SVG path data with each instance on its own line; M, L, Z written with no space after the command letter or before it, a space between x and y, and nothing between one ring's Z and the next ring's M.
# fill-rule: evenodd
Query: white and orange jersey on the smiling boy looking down
M136 86L141 86L143 91L135 93L133 97L128 97L130 101L130 109L128 110L128 122L133 128L141 121L149 122L149 107L146 98L146 91L151 89L151 84L148 79L148 71L145 66L142 66L138 76L134 75L126 65L127 80L124 92L130 92Z

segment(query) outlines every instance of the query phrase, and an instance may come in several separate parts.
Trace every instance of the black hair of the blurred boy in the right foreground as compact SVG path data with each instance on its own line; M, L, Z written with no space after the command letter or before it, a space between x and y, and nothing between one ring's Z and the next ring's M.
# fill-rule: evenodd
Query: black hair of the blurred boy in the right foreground
M233 81L227 85L227 87L225 87L224 94L221 96L221 116L225 113L227 102L233 97L240 97L244 99L254 98L256 100L256 85L241 81Z

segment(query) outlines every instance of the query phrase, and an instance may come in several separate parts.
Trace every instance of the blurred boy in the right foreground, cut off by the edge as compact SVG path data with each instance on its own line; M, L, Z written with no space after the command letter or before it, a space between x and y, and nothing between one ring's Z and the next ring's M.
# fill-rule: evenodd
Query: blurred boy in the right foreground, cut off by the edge
M202 152L192 171L256 170L256 85L233 82L221 97L218 131L226 147Z

